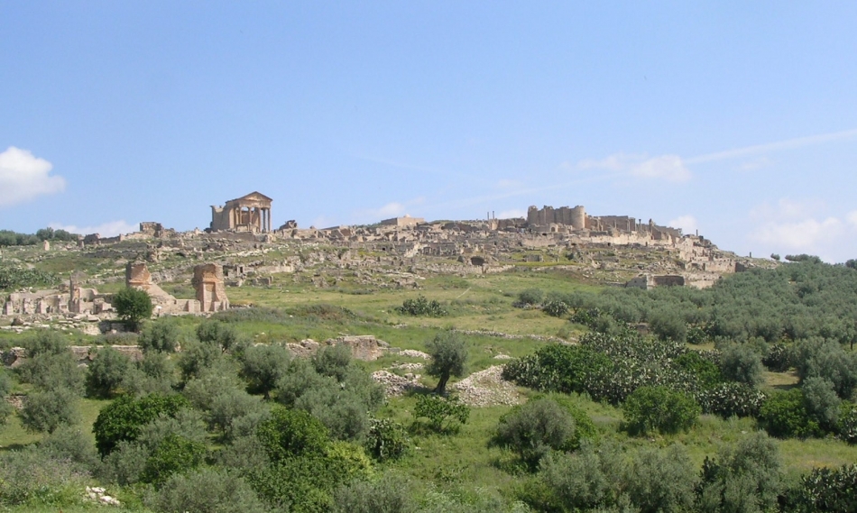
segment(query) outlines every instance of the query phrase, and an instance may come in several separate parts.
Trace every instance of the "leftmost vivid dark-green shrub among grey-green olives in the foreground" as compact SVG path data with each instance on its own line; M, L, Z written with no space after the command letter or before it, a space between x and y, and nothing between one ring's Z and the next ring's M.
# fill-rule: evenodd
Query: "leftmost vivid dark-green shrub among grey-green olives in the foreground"
M96 446L102 456L109 454L121 441L134 441L140 430L161 415L175 417L189 401L181 396L152 394L143 398L122 396L98 413L92 432L96 435Z

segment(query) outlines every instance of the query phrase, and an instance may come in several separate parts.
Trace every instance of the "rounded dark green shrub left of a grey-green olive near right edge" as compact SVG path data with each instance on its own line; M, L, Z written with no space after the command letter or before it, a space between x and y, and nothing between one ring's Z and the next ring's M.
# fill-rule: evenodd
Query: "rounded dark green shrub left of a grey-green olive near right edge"
M770 435L780 438L821 435L818 422L806 410L800 389L775 392L759 411L759 422Z

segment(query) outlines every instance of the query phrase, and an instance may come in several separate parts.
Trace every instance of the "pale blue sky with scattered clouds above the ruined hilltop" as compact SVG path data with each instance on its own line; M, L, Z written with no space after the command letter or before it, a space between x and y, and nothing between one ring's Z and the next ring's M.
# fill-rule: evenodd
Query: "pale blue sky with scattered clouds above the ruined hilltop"
M854 2L0 3L0 228L586 206L857 258Z

